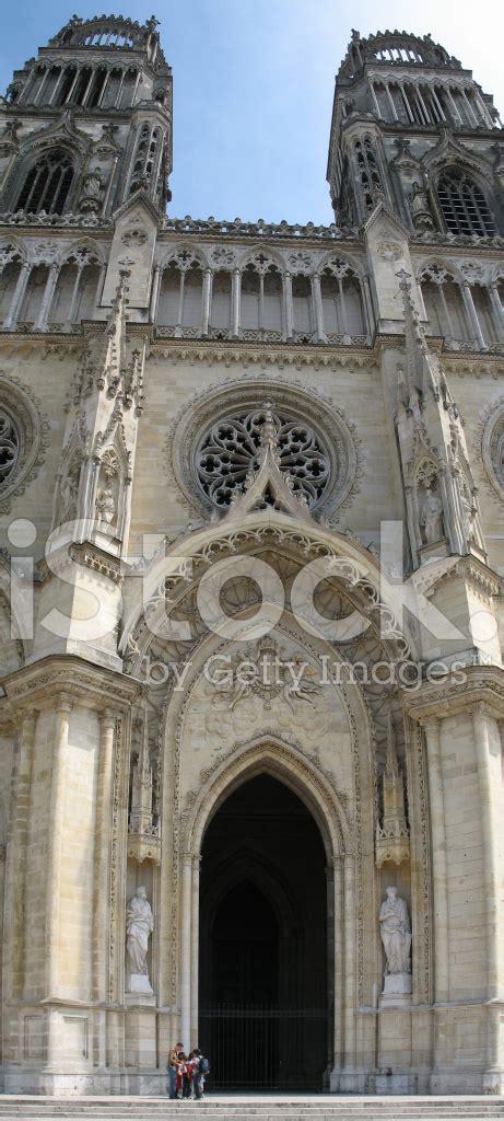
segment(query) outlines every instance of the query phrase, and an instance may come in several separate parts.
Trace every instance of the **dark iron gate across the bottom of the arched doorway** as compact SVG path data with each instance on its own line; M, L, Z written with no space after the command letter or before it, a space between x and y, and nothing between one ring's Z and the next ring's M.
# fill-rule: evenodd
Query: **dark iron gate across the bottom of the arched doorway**
M218 1004L199 1012L215 1090L320 1091L328 1039L327 1009Z

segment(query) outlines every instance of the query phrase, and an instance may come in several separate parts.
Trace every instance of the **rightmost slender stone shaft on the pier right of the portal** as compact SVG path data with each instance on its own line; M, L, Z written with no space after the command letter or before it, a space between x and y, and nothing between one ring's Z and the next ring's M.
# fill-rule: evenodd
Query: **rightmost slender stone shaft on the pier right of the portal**
M478 766L479 803L484 846L484 878L486 896L486 978L487 1000L500 999L498 970L498 919L501 907L501 869L498 856L500 822L497 819L494 790L495 776L491 765L491 714L479 702L473 708L474 739ZM498 779L502 782L500 769Z

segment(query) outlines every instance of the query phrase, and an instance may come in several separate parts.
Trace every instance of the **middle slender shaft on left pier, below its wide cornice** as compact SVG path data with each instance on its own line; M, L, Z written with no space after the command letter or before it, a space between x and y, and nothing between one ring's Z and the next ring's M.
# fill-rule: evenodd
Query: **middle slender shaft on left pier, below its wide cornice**
M62 694L56 702L55 733L53 745L53 773L50 787L49 840L47 852L46 890L46 993L57 994L59 952L59 908L63 845L63 810L65 797L65 756L68 747L68 730L72 701Z

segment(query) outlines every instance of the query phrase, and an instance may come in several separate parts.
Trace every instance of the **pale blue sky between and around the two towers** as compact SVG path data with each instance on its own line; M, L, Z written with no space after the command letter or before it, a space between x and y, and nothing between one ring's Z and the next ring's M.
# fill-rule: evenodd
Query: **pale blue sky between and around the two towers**
M170 213L179 217L332 221L334 76L353 27L430 31L504 111L501 0L119 0L118 11L143 22L152 7L174 71ZM74 8L83 17L100 10L95 0L6 3L2 90Z

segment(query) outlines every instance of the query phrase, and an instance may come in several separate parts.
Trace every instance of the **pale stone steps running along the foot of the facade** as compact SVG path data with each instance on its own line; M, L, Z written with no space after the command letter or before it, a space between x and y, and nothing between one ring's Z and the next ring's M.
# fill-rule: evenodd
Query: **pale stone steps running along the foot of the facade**
M504 1097L212 1095L202 1102L166 1097L0 1095L0 1121L504 1121Z

